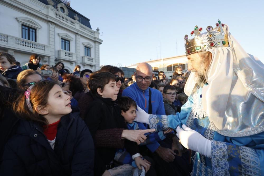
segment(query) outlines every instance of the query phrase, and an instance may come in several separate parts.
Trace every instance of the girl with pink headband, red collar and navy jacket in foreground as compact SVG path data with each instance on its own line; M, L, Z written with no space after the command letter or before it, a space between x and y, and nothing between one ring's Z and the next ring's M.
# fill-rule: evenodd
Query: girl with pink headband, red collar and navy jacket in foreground
M31 85L13 110L21 120L5 146L0 175L93 175L91 134L59 85Z

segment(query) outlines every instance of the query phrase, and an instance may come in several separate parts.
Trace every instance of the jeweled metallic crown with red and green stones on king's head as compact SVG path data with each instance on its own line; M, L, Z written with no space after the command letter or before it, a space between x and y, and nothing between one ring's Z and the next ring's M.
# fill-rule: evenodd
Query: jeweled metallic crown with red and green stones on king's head
M188 35L184 36L186 56L214 47L228 46L228 34L225 32L227 25L221 23L219 19L215 25L215 28L207 26L207 33L204 34L201 34L201 27L198 28L198 26L195 26L194 30L191 32L191 36L194 35L193 39L188 40Z

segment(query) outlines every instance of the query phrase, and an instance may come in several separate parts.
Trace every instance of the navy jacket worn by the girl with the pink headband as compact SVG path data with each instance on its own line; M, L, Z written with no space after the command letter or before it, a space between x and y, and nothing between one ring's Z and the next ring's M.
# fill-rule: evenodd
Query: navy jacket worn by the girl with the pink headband
M54 150L43 127L20 120L5 146L0 175L93 175L94 145L79 112L61 118Z

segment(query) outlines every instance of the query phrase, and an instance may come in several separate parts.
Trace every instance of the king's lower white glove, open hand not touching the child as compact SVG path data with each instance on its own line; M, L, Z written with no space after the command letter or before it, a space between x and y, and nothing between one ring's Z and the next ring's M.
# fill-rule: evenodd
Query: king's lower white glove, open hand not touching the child
M180 139L181 144L190 150L197 151L208 158L211 158L211 140L206 139L197 131L182 125L182 129L178 126L176 128L177 137Z

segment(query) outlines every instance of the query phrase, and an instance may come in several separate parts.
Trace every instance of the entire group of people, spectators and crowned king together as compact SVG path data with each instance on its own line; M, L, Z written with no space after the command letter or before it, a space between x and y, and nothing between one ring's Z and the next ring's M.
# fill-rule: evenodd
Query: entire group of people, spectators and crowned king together
M220 20L201 31L170 78L0 52L0 175L264 175L264 65Z

